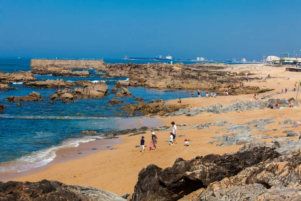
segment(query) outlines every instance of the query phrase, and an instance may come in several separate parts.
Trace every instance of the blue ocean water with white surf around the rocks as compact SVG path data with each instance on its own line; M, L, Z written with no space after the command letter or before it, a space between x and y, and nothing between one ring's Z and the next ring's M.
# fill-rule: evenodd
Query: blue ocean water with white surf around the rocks
M120 59L104 60L105 62L127 62ZM142 63L145 61L131 61ZM148 61L147 61L148 62ZM30 59L0 59L0 71L17 72L29 71ZM123 78L102 78L99 72L89 69L90 77L55 77L52 75L35 75L41 79L65 79L76 81L88 79L93 82L104 81L109 89L114 86L114 82ZM128 112L120 110L127 103L137 103L131 97L118 97L124 104L108 106L108 101L114 97L110 94L103 98L77 99L77 103L63 104L56 101L49 104L49 94L58 89L52 88L31 88L23 87L21 82L12 84L20 90L0 91L0 102L6 109L0 112L0 172L25 171L35 167L45 165L56 156L56 150L62 147L76 147L79 143L89 142L96 138L101 138L101 134L111 130L122 130L127 128L138 128L141 125L133 117L126 114ZM146 102L152 99L163 98L176 99L180 96L190 97L190 90L166 91L149 89L143 87L129 87L129 91L135 97L143 97ZM28 95L32 91L39 92L42 102L21 102L21 106L16 103L5 101L7 96ZM205 93L202 93L204 96ZM122 117L115 114L121 114ZM139 112L135 117L142 117ZM122 118L122 119L121 119ZM83 136L81 131L96 130L98 136ZM10 165L8 165L10 164Z

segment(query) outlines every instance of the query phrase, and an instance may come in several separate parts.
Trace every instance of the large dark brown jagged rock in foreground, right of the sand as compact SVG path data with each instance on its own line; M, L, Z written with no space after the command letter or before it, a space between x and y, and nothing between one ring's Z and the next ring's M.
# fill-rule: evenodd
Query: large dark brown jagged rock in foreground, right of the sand
M129 200L178 200L215 181L279 156L267 147L255 147L235 154L209 154L185 161L178 158L172 167L162 169L154 164L143 167Z

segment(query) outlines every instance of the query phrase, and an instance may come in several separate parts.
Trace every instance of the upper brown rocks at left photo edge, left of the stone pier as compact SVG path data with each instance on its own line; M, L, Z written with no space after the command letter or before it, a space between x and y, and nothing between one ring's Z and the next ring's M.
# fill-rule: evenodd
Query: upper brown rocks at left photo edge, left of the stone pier
M3 81L15 81L15 82L23 82L23 81L36 81L37 78L34 77L32 72L12 72L12 73L4 73L0 71L0 82Z

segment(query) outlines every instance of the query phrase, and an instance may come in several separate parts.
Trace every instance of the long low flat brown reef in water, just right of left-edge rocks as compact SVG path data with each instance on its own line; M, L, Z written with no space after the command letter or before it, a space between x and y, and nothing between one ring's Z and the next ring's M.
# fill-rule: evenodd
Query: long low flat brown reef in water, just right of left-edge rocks
M75 86L75 83L65 81L63 79L47 79L46 81L25 82L23 86L39 87L39 88L70 88Z

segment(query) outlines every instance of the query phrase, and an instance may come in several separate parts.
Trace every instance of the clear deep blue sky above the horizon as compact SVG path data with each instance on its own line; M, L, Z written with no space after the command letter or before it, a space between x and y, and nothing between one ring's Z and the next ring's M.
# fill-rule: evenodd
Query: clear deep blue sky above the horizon
M225 60L301 49L301 0L0 0L0 57Z

